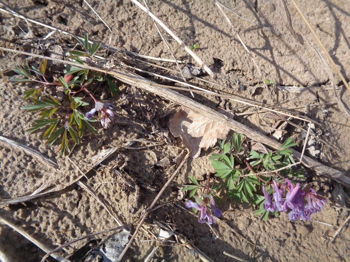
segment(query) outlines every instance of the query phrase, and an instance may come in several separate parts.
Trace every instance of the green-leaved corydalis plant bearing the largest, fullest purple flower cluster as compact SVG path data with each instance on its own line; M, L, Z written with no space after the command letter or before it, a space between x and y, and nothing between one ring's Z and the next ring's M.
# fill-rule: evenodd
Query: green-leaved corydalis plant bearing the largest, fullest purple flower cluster
M266 192L270 194L272 189L269 189L270 191L266 191L265 185L272 184L273 182L271 182L271 180L274 176L282 177L282 179L277 180L276 183L285 183L283 181L289 181L288 179L285 180L285 177L305 179L302 175L303 169L294 170L292 167L290 167L291 164L295 163L292 156L292 150L288 148L296 145L292 141L292 138L287 138L279 150L268 153L260 153L254 150L249 150L249 144L245 141L243 134L239 133L233 134L232 144L230 142L226 143L226 139L222 141L218 140L218 143L219 146L216 146L215 148L219 150L220 153L213 153L209 158L211 160L211 165L216 169L215 176L217 179L219 179L219 182L211 188L211 193L213 194L213 191L216 193L223 191L226 195L234 198L239 203L243 201L254 205L260 204L259 209L255 211L254 214L261 215L261 218L264 218L265 220L267 220L268 216L271 214L278 216L280 211L286 211L286 209L280 210L278 208L280 205L279 203L282 203L280 197L274 204L272 204L272 206L268 204L269 198L267 198ZM279 170L278 173L273 173L274 170L280 168L285 169ZM194 183L193 179L190 178L190 180ZM286 191L283 189L283 192L281 192L282 189L280 189L280 194L285 194L288 199L292 197L289 192L294 189L292 188L293 183L297 184L296 182L290 182L288 187L283 185L283 188L285 188ZM200 186L195 184L185 185L185 187L187 190L191 190L191 197L194 196L195 191ZM300 187L300 184L298 187ZM264 188L265 191L261 192L261 188ZM308 192L308 190L311 190L311 192ZM298 197L300 198L301 191L298 192ZM278 192L276 193L276 196L279 196ZM314 200L314 204L318 203L321 205L321 203L323 203L322 201L316 201L316 199L320 198L315 195L313 189L309 188L305 190L305 194L303 196L305 196L303 201L306 198L308 199L311 197L311 199ZM301 217L309 218L308 215L310 213L305 211L305 205L302 205L302 201L299 198L295 198L297 201L299 201L297 202L299 208L293 209L288 207L290 210L292 210L293 216L290 215L291 219L298 219ZM287 203L294 202L283 201L282 204ZM301 209L303 209L304 213L301 213ZM310 212L312 213L312 211Z

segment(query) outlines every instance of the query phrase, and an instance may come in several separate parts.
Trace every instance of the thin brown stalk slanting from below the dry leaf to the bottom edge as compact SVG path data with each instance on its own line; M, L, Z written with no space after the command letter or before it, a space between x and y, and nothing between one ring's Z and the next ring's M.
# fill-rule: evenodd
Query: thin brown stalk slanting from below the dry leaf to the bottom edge
M138 224L137 228L135 229L135 232L133 234L133 236L131 237L131 239L129 240L129 242L127 243L126 247L124 248L123 252L120 254L118 261L121 261L121 259L123 258L123 256L125 255L125 253L127 252L128 248L131 246L132 242L135 239L136 234L138 233L138 231L140 230L142 224L144 223L146 217L148 216L148 214L151 212L151 209L153 208L153 206L155 206L155 204L158 202L158 199L161 197L161 195L163 194L163 192L165 191L165 189L168 187L168 185L172 182L172 180L174 179L174 177L179 173L180 169L182 168L182 166L184 165L184 163L186 163L187 159L190 156L190 152L188 152L186 154L186 156L184 157L184 159L181 161L179 167L177 167L177 169L174 171L174 173L172 174L172 176L169 177L168 181L163 185L162 189L159 191L158 195L154 198L152 204L149 206L148 210L145 212L145 214L142 216L140 223Z

